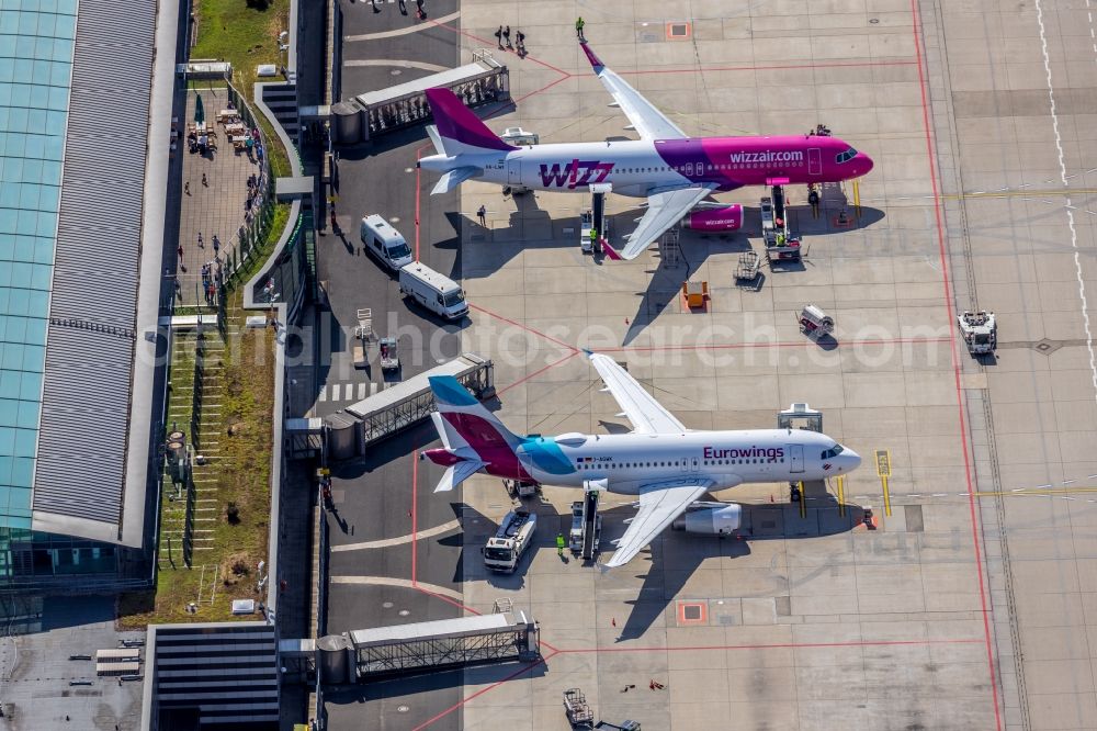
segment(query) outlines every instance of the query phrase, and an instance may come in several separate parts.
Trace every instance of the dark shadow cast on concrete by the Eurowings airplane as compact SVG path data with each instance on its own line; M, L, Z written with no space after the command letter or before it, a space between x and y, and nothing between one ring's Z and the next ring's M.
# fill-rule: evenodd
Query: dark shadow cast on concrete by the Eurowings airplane
M738 504L743 508L743 522L734 536L693 536L667 529L652 542L651 551L642 551L637 558L647 562L647 573L637 593L637 598L626 601L632 611L621 628L618 642L634 640L665 616L667 609L680 595L693 570L705 558L725 556L736 559L750 554L749 541L789 540L798 538L819 538L848 532L863 522L864 511L852 504L838 505L837 499L825 488L807 488L807 518L800 517L799 503L776 503L762 505ZM734 503L730 503L734 504ZM839 507L845 515L839 516ZM608 510L603 515L602 541L619 538L624 526L617 520L634 515L632 508L622 507ZM614 520L608 516L612 515ZM635 559L634 559L635 561ZM623 566L615 571L629 571ZM635 570L633 570L635 571ZM638 576L638 574L636 574Z

